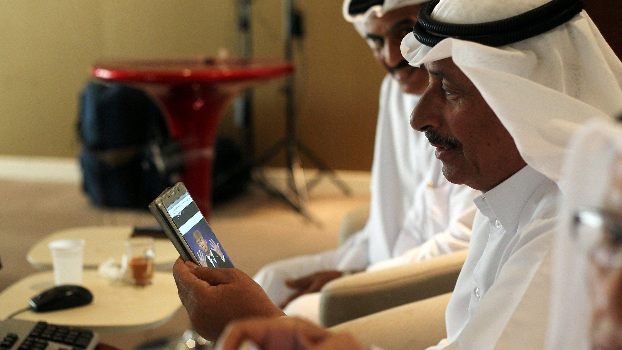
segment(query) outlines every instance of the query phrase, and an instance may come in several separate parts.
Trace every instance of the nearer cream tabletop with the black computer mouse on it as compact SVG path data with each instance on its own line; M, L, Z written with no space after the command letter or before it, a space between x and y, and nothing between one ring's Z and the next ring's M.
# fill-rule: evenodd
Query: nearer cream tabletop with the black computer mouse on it
M16 319L80 326L99 332L136 332L166 323L182 302L172 273L156 272L152 285L144 287L104 280L85 271L82 285L93 293L93 302L78 308L34 313ZM0 293L0 319L28 306L28 300L54 286L53 273L39 272L17 281Z

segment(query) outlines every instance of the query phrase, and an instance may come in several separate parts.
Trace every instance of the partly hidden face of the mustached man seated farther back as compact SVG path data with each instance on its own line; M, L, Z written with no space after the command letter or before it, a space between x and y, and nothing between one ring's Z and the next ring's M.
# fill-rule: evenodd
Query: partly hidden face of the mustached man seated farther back
M402 91L420 95L427 86L427 73L423 68L408 65L402 56L402 39L412 32L421 5L401 7L382 17L372 17L365 22L365 37L374 57L387 72L396 78Z

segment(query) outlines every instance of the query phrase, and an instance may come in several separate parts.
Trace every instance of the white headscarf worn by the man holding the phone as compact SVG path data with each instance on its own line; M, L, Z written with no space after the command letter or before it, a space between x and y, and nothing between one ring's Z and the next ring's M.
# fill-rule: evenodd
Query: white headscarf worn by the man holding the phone
M441 0L437 21L473 24L513 17L549 0ZM590 118L622 110L622 62L585 11L556 29L503 47L448 38L435 47L411 33L411 65L452 57L513 136L527 164L559 181L570 137Z

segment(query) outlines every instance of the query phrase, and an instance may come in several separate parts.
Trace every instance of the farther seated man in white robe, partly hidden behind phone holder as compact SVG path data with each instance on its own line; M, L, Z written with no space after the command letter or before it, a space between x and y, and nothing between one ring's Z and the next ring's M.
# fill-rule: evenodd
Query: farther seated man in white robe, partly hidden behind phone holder
M256 274L254 280L272 302L287 305L287 315L318 323L318 291L343 272L376 271L468 248L475 214L472 200L478 193L448 182L434 148L422 133L408 127L428 77L424 69L407 64L399 46L412 31L422 2L343 4L345 19L388 71L380 93L369 220L337 250L271 263Z

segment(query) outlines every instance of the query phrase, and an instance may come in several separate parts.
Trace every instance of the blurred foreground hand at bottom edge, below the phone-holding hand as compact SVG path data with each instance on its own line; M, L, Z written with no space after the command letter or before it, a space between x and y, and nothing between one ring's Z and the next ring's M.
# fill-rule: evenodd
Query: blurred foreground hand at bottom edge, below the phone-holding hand
M333 334L297 318L248 319L232 323L218 341L218 350L238 350L243 341L261 350L364 350L347 333Z

